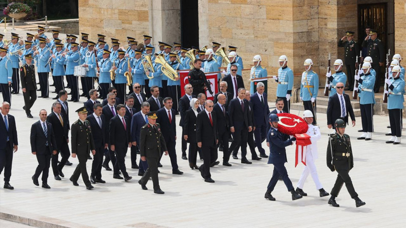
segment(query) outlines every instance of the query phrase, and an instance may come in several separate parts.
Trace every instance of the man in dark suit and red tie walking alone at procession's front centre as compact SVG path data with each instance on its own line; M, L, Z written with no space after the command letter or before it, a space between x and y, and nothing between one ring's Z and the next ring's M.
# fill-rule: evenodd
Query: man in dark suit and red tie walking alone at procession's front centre
M217 118L216 113L213 112L213 107L213 101L207 100L205 110L197 114L196 120L197 146L201 148L204 161L199 167L199 171L205 182L209 183L214 183L210 167L217 160L217 143L219 141Z

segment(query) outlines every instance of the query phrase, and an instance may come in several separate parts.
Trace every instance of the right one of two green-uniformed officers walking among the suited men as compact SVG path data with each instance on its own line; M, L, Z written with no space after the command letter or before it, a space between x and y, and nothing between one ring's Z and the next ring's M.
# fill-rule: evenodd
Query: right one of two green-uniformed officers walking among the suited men
M156 124L155 111L151 111L147 114L148 122L141 128L140 132L140 153L141 160L147 161L148 169L145 171L144 176L138 181L144 190L148 190L146 184L150 177L152 177L152 182L154 183L154 193L164 194L164 192L159 187L158 181L158 161L161 157L161 149L168 155L168 150L166 149L165 140L160 129L159 124Z

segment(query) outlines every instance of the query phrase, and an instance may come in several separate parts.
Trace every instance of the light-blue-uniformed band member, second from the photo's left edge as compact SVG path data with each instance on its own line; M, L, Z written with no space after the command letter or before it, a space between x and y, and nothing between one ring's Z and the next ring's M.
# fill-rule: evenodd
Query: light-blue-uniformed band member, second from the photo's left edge
M9 46L9 58L13 65L13 80L11 83L11 94L18 94L20 92L20 77L18 75L18 71L20 68L19 62L20 59L18 58L19 50L22 50L22 41L18 42L20 37L16 33L11 33L11 43Z

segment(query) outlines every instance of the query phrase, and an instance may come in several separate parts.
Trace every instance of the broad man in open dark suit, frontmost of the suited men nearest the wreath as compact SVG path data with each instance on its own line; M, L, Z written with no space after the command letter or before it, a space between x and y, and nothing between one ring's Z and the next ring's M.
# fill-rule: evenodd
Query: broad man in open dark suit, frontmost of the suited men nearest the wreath
M230 124L230 132L233 134L233 141L230 145L230 151L233 151L238 146L241 146L241 163L252 164L248 161L247 156L247 140L248 132L252 131L252 119L249 118L249 103L245 100L244 88L238 89L238 97L232 99L228 106L228 121ZM233 159L238 159L234 157Z

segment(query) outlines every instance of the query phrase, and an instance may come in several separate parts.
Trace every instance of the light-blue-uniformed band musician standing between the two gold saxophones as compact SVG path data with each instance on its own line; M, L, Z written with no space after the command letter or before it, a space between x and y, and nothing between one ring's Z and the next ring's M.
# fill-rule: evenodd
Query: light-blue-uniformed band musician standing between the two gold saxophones
M116 89L117 97L120 98L121 102L125 99L125 85L127 84L127 79L124 73L128 71L127 61L124 59L125 51L118 50L118 59L115 61L116 65L112 69L116 72Z

